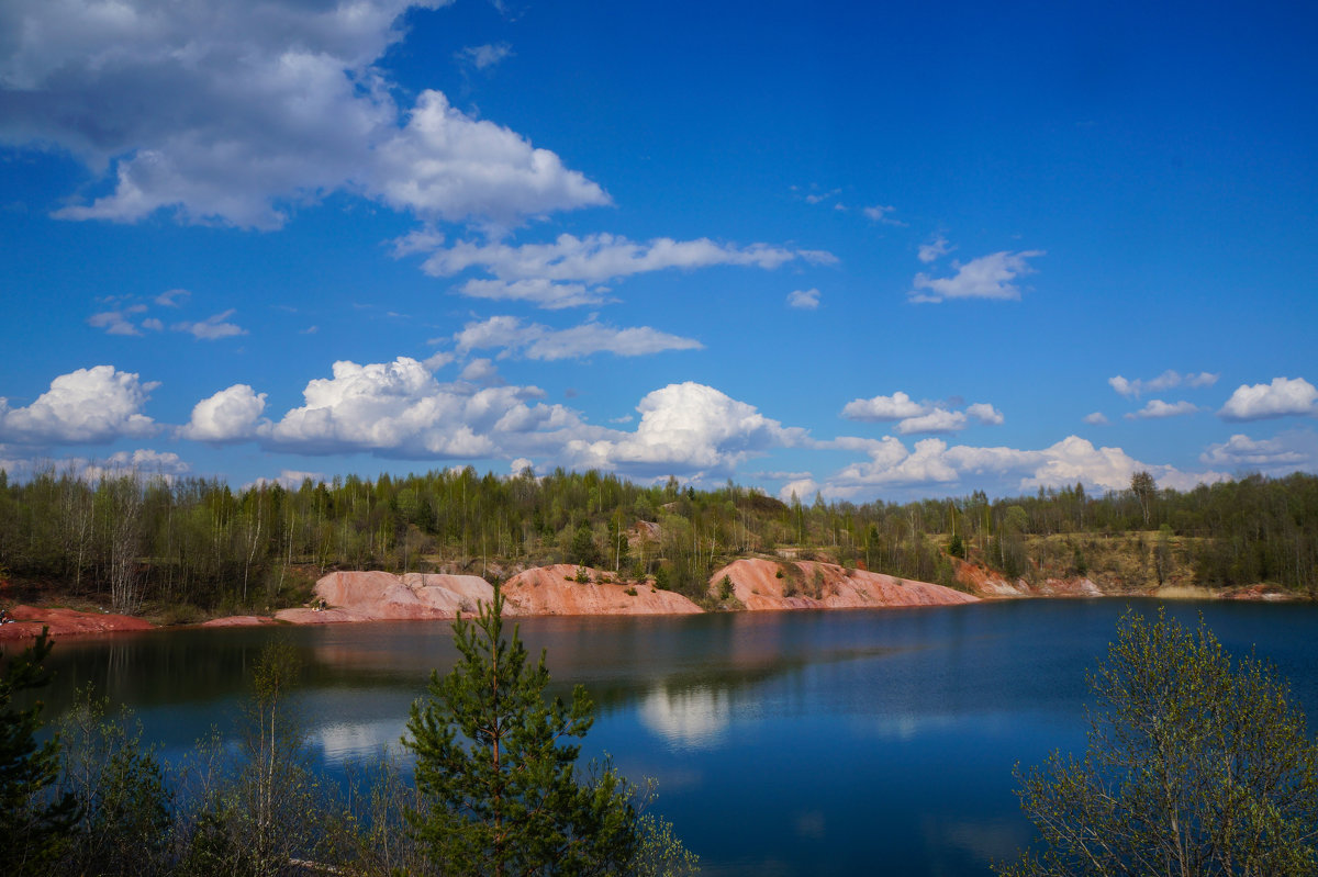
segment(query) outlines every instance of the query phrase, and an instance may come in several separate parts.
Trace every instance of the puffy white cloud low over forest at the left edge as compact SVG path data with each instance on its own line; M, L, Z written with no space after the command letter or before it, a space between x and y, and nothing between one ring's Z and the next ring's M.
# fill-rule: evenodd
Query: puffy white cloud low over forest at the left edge
M25 408L11 408L0 396L0 437L26 445L100 444L157 432L141 413L158 383L103 365L78 369L50 382Z

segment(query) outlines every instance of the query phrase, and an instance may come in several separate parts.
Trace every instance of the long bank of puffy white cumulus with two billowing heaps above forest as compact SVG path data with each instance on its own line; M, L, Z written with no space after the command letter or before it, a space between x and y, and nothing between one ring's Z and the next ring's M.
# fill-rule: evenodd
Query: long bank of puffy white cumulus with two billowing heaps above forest
M637 407L641 421L629 432L593 425L571 408L544 403L538 387L482 386L474 378L464 373L463 379L440 383L409 357L368 365L340 361L332 377L307 385L304 404L268 428L250 427L249 410L235 417L240 428L233 432L245 425L264 446L281 452L535 458L639 477L730 473L749 457L808 442L804 429L784 427L699 383L647 394Z

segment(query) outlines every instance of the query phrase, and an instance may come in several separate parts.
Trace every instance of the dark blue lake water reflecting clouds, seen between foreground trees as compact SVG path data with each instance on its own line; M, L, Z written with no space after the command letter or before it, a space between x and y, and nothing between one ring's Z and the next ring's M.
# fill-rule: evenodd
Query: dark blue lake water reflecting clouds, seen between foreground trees
M585 685L584 753L659 782L655 809L708 874L986 874L1029 843L1012 766L1085 744L1085 672L1127 607L1012 600L961 607L522 619L556 689ZM1257 648L1318 715L1318 606L1168 603L1223 644ZM397 747L444 623L159 631L59 641L51 712L92 682L166 757L232 727L261 647L307 668L299 708L327 770ZM50 714L47 714L50 715Z

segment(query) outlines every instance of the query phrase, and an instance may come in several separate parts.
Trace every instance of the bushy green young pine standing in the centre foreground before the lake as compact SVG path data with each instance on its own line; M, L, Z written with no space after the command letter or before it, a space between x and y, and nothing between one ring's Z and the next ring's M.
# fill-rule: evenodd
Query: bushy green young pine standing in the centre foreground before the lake
M413 704L403 744L430 805L418 839L445 874L617 873L637 845L634 790L577 770L590 699L577 686L571 704L547 702L544 653L530 664L517 627L505 640L502 611L496 586L474 622L453 622L461 658Z

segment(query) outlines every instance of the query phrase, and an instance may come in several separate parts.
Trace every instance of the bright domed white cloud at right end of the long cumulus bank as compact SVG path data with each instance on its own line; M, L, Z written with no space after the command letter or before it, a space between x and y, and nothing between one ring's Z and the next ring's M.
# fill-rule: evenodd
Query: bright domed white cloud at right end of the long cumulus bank
M689 381L647 394L637 411L641 423L633 433L569 442L573 465L655 475L722 473L770 448L807 440L804 429L783 427L754 406Z

